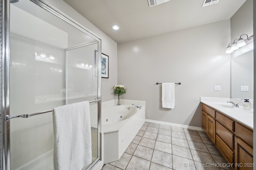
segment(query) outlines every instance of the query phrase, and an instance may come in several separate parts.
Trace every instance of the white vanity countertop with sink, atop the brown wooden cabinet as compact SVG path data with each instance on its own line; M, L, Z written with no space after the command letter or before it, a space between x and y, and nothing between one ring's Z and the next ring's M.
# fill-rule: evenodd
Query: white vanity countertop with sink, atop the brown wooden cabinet
M212 107L216 111L223 113L229 117L232 117L236 121L246 125L253 129L253 110L245 110L240 104L238 107L232 107L232 101L229 98L206 98L201 97L201 102L209 107Z

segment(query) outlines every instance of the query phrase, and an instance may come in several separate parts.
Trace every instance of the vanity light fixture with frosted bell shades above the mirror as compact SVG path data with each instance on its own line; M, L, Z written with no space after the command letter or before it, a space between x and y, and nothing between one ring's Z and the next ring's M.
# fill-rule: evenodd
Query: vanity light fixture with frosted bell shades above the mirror
M242 38L242 35L246 35L246 36L247 36L247 39L243 39L243 38ZM235 39L233 43L229 43L229 44L228 44L228 47L227 47L227 49L226 49L226 53L227 53L227 54L228 54L228 53L232 53L232 52L238 50L239 48L244 47L245 45L247 45L247 44L253 42L253 35L250 36L250 37L248 37L247 34L242 34L242 35L240 36L240 38ZM236 41L236 40L237 40L237 41ZM231 44L231 45L230 45L230 44Z

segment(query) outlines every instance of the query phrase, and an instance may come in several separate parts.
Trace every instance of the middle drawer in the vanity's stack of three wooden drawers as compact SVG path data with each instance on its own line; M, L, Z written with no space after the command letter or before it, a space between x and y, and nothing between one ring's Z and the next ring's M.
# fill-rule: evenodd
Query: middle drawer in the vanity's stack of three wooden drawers
M230 149L234 149L234 135L231 133L228 129L226 129L224 126L222 126L220 123L216 121L216 134L225 141L226 145Z

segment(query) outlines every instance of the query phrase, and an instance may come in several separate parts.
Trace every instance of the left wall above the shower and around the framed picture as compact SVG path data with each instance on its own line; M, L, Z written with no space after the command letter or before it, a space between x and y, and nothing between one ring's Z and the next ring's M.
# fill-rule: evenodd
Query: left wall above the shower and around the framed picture
M94 35L97 35L102 39L102 53L109 56L109 78L102 78L102 102L115 99L115 96L112 94L112 88L117 83L117 43L100 31L100 29L98 29L92 23L90 23L90 21L86 20L64 1L46 0L46 2L73 20L77 21L90 30Z

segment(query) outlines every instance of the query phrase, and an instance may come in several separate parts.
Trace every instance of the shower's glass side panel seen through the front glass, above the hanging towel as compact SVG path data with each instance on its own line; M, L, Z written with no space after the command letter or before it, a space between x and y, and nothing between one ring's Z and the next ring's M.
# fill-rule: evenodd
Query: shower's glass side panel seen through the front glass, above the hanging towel
M98 98L97 47L92 44L66 52L67 104Z

